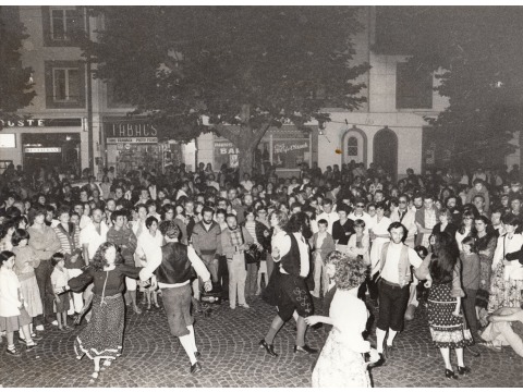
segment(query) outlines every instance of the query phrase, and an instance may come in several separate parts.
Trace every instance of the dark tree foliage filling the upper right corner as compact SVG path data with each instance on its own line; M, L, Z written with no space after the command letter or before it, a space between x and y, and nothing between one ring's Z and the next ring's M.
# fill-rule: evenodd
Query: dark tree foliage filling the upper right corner
M449 106L429 119L452 162L497 166L523 120L523 10L519 7L381 8L377 50L412 54L437 72ZM520 133L523 137L523 132ZM520 143L523 146L523 143Z

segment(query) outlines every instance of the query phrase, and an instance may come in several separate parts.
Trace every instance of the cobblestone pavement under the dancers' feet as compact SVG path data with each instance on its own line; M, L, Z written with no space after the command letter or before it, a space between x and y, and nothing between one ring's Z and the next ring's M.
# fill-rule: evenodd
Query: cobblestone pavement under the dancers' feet
M318 302L317 307L320 308ZM76 331L45 332L31 353L14 358L0 344L2 387L311 387L311 372L317 355L294 354L294 321L285 324L275 340L280 354L276 359L258 347L275 309L252 298L251 309L215 306L208 318L196 318L196 343L202 352L203 371L188 373L190 363L178 339L170 335L162 309L127 315L124 351L110 369L90 381L93 362L76 360L73 341ZM78 327L82 328L82 327ZM320 347L324 329L308 330L307 343ZM374 343L374 335L370 336ZM21 345L16 343L20 347ZM394 356L372 371L375 387L522 387L523 358L510 347L501 353L482 348L481 357L466 355L472 373L447 380L443 362L428 332L424 308L405 324L396 339ZM455 357L452 358L455 366Z

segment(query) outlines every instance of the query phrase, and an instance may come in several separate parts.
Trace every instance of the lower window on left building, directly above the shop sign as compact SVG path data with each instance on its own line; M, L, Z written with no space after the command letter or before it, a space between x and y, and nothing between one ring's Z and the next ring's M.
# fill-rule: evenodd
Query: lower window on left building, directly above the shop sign
M80 61L46 61L46 106L85 108L85 68Z

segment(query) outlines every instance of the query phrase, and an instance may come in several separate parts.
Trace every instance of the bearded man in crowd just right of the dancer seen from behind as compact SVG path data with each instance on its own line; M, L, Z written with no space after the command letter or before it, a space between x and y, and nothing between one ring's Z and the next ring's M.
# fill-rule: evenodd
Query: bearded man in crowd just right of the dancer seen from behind
M194 225L192 242L196 255L202 258L202 261L204 261L210 272L214 290L218 290L218 259L221 255L221 230L220 225L212 220L214 215L212 208L204 207L202 210L203 220Z

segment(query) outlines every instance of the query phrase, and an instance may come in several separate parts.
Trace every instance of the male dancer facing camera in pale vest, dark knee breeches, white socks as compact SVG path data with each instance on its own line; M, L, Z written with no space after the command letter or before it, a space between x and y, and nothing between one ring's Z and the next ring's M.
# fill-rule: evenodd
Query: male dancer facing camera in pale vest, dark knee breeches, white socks
M390 243L381 248L379 259L379 316L376 324L376 345L380 356L373 367L381 366L391 355L396 334L403 329L403 316L409 302L409 285L412 280L411 266L419 280L430 280L430 275L419 277L416 271L423 260L417 253L403 244L406 229L400 222L389 225ZM387 350L384 341L387 335Z

